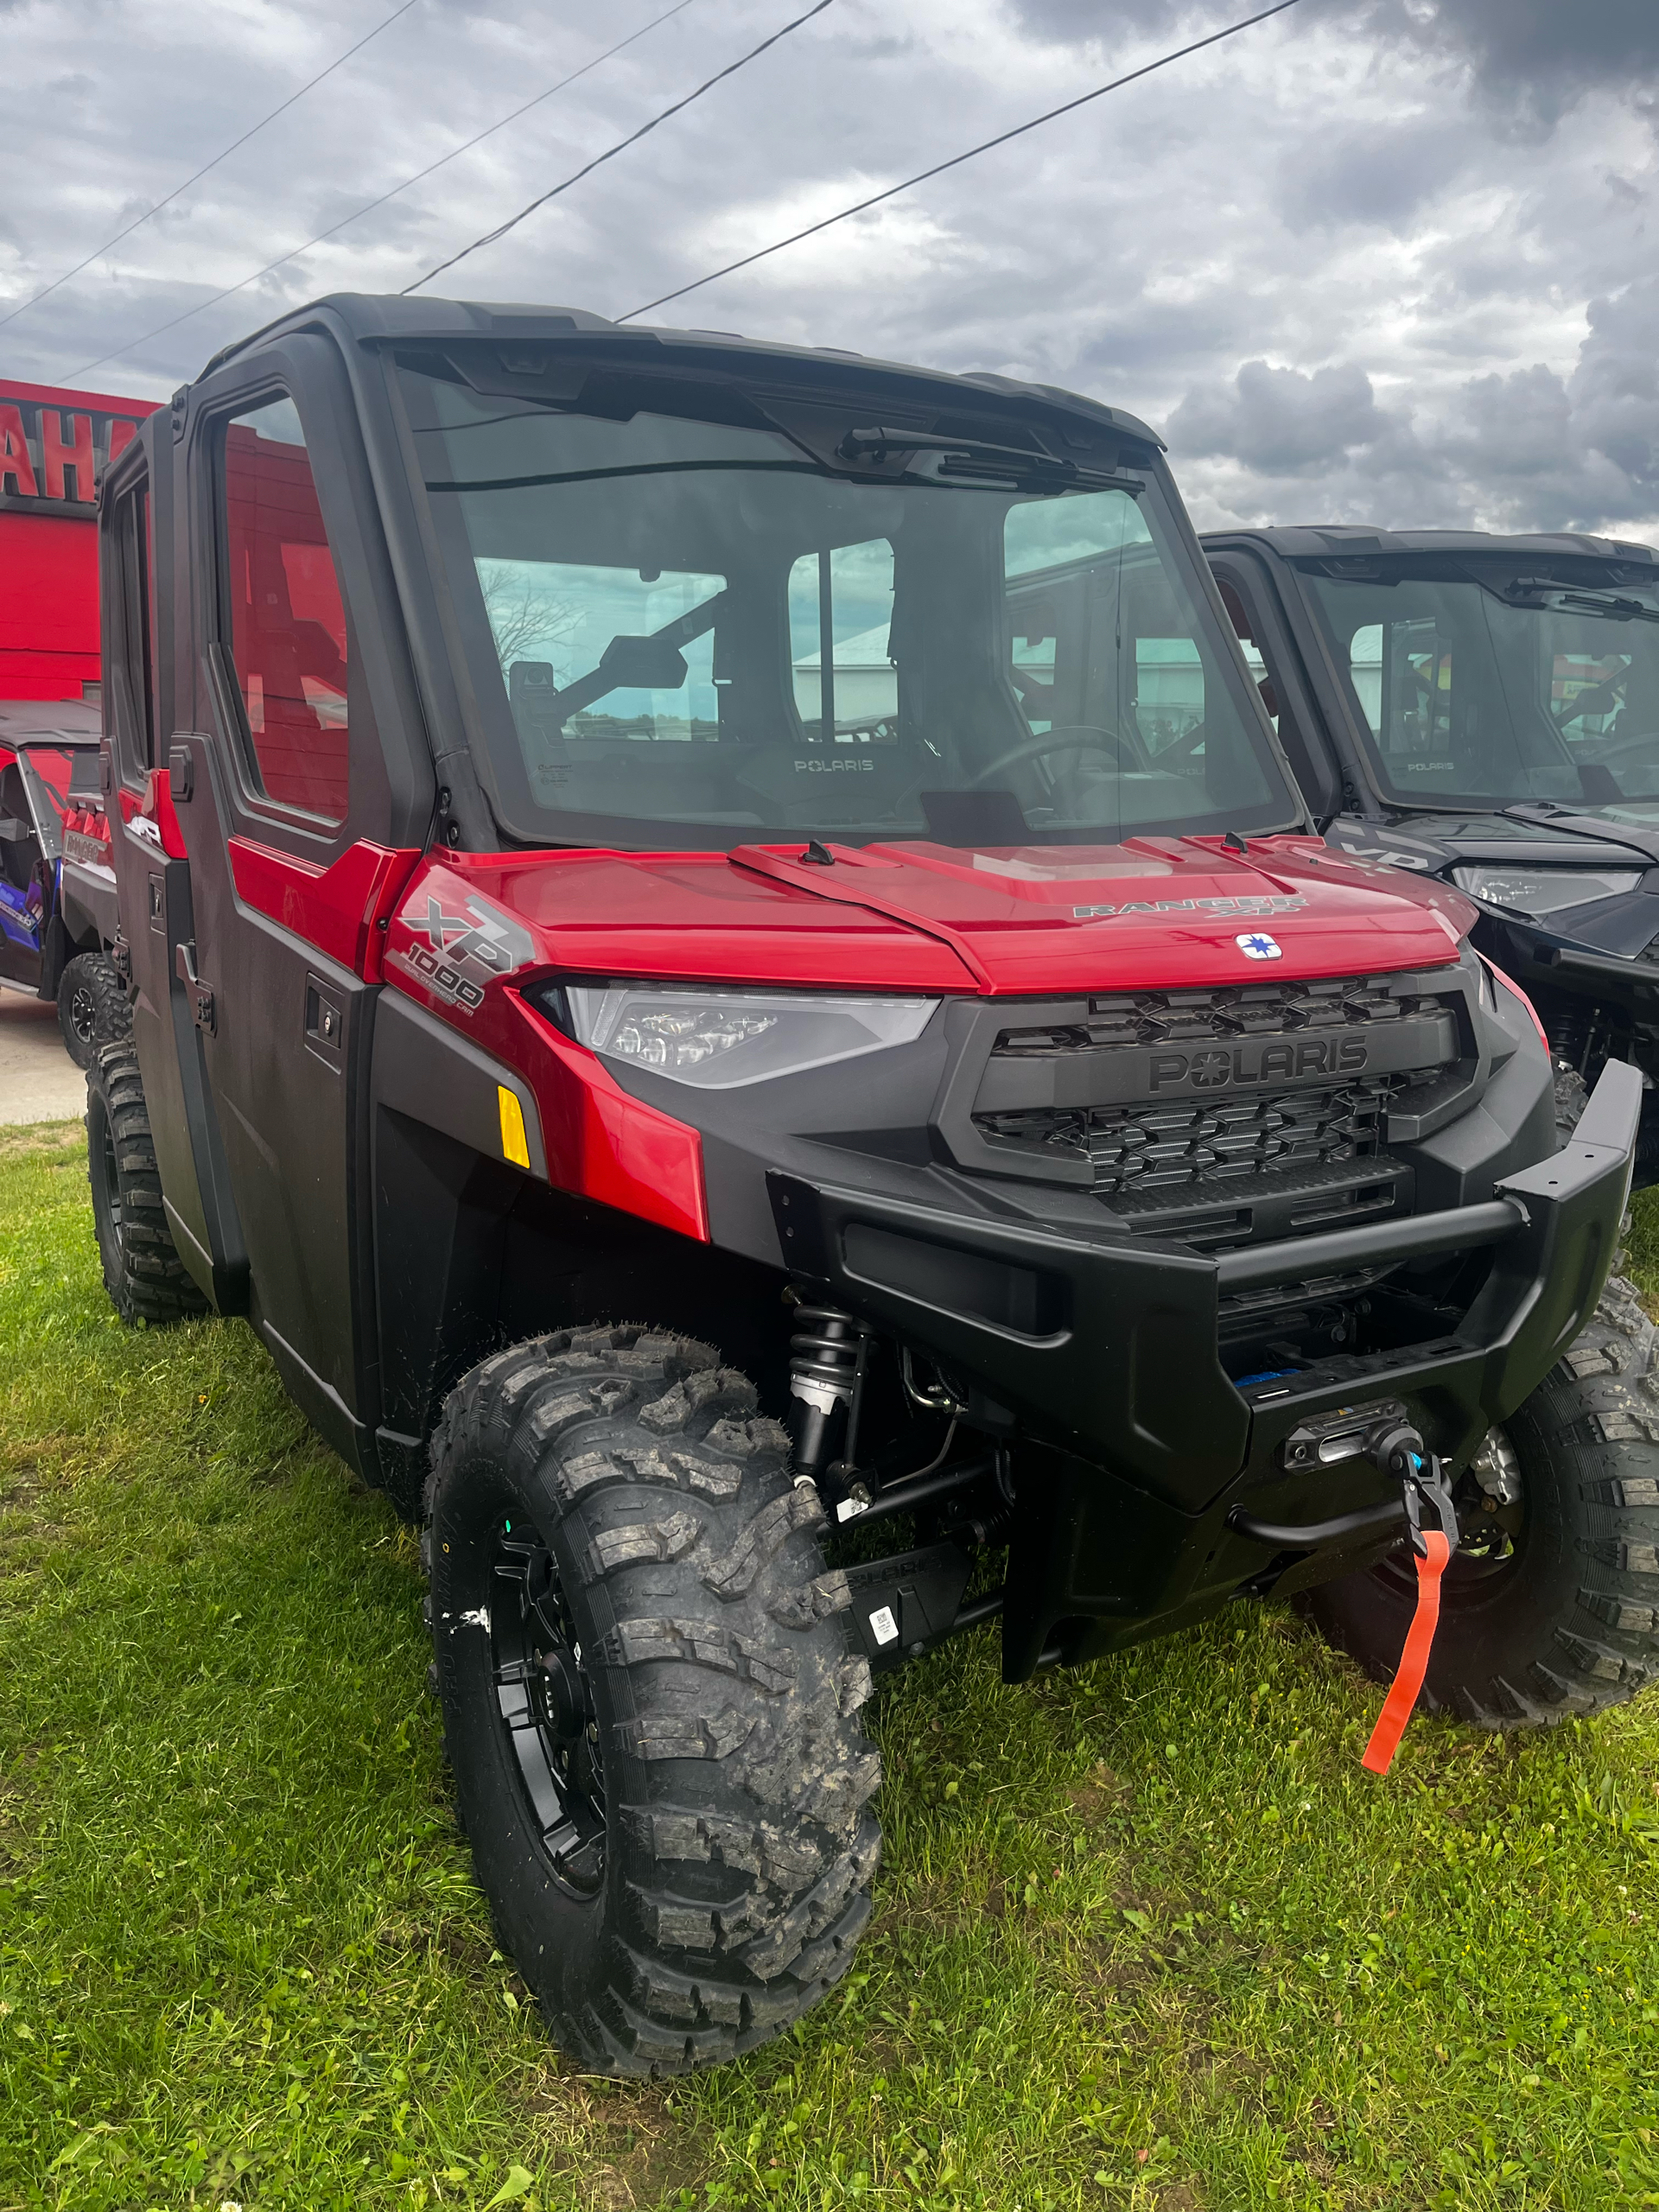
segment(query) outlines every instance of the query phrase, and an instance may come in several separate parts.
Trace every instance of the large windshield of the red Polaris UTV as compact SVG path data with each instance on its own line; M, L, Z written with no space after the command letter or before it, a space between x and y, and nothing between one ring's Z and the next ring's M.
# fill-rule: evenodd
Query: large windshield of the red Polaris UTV
M520 836L1022 845L1296 818L1155 482L1015 491L949 480L938 451L849 480L776 429L606 420L409 365L403 387Z

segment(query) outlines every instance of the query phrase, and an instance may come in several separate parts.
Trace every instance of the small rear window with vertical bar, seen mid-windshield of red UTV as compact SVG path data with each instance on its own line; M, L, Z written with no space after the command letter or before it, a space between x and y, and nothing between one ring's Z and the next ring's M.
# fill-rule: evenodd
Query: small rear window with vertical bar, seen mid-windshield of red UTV
M803 553L794 562L790 672L807 737L841 745L898 743L891 630L894 549L887 538Z

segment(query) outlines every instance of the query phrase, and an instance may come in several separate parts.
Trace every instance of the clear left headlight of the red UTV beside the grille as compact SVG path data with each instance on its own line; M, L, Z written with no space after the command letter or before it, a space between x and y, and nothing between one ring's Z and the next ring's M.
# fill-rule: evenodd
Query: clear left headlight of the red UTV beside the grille
M562 998L577 1042L699 1091L734 1091L911 1044L938 1006L936 998L818 998L688 984L564 984Z

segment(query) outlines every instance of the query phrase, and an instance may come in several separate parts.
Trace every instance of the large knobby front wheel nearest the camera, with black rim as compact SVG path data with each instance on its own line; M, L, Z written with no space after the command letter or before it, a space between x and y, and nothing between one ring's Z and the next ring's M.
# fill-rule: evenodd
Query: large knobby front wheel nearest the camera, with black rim
M434 1440L422 1553L478 1880L595 2073L770 2042L869 1918L880 1765L816 1491L686 1338L544 1336Z

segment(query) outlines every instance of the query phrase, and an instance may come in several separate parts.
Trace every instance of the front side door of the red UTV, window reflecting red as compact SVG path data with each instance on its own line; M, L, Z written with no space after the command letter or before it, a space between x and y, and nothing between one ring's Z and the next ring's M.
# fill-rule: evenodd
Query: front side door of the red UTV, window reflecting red
M201 679L195 728L170 737L168 783L195 898L181 967L201 1009L250 1314L312 1422L372 1473L365 1077L378 945L341 929L338 885L356 887L361 918L374 883L396 889L396 867L378 858L392 799L354 619L372 595L356 560L365 518L343 491L345 411L316 398L316 361L303 374L316 347L279 356L281 378L265 356L241 394L215 380L192 418Z

